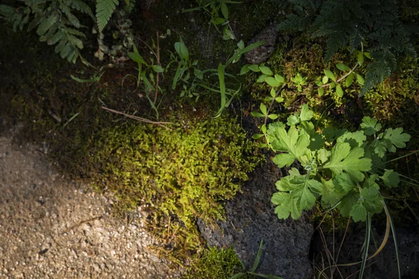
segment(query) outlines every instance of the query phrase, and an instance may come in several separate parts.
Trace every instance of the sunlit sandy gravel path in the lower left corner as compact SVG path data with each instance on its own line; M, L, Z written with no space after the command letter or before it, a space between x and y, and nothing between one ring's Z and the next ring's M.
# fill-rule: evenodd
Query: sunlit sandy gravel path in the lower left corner
M140 214L129 223L110 206L36 146L0 137L0 278L178 278L147 248Z

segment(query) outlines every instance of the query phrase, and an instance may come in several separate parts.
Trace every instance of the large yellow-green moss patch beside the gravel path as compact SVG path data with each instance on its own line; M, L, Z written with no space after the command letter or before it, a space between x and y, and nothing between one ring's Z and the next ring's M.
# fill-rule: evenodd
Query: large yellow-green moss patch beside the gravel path
M223 218L223 201L240 191L259 159L234 119L173 120L180 124L170 130L143 123L103 129L88 160L119 211L145 206L153 234L183 253L201 247L196 218Z

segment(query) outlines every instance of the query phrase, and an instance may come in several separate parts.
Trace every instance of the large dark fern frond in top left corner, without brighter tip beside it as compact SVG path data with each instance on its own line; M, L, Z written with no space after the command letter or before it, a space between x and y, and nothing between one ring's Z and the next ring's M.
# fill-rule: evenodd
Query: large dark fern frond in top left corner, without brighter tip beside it
M82 24L73 13L75 10L93 17L89 6L81 0L32 0L26 6L13 8L0 5L0 16L13 24L13 29L22 29L29 23L28 31L36 28L39 40L56 45L55 52L63 59L75 63L83 48ZM30 19L30 22L29 22Z

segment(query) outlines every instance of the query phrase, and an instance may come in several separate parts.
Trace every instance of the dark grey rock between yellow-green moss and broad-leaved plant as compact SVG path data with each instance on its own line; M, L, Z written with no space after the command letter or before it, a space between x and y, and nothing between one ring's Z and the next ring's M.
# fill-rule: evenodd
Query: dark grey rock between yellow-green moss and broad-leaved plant
M284 278L311 278L309 248L314 227L307 214L299 220L279 220L270 197L274 183L281 177L271 160L253 173L243 193L226 204L226 221L218 227L198 222L209 246L233 246L237 255L251 269L263 239L263 257L258 273L274 274Z

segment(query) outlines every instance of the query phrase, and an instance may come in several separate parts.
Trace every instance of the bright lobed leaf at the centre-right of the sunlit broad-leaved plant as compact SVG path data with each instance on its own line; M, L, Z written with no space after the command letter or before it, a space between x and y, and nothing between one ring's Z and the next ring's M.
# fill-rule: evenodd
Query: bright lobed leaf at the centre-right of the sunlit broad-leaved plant
M337 143L333 146L330 162L324 167L332 170L335 176L346 172L353 181L363 181L365 174L362 172L368 172L372 163L371 159L362 158L362 156L364 156L364 149L356 147L351 150L347 142Z

